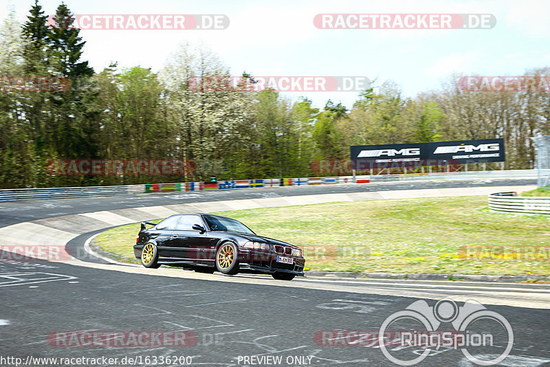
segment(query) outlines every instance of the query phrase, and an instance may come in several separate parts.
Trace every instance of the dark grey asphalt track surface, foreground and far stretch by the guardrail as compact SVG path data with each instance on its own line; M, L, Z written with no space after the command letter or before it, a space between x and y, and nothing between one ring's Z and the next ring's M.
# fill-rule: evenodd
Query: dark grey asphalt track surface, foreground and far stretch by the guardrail
M0 203L0 226L82 212L193 201L527 184L533 184L533 181L371 183L19 201ZM69 246L80 247L87 237L89 234L75 238ZM250 282L251 279L253 282ZM28 362L27 366L50 366L53 364L39 363L34 358L102 356L118 358L119 362L124 357L141 358L140 363L135 364L140 366L168 366L159 363L160 356L191 357L191 366L395 366L375 343L342 345L349 340L335 340L337 334L330 332L376 332L386 318L404 311L419 299L425 299L430 306L434 306L434 298L452 298L463 306L463 301L470 296L483 297L492 291L502 291L503 297L513 296L513 293L521 297L521 294L528 292L549 293L549 287L322 278L283 282L265 276L227 277L177 269L103 265L101 260L96 260L89 267L43 261L2 261L0 366L15 366L1 359L7 357L21 358L21 365ZM411 289L420 296L406 297ZM502 315L514 331L509 357L497 366L550 366L548 307L538 309L536 306L525 308L493 304L486 304L485 307ZM411 324L410 320L400 322L395 324L395 329L426 330L419 324ZM494 337L493 346L467 348L472 355L490 359L504 351L508 334L496 322L476 321L475 327L470 329L472 333L490 333ZM451 331L454 326L443 322L438 330ZM89 340L63 336L74 331L102 331L104 335L118 332L125 333L126 337L122 337L117 345L114 345L114 340L109 344L103 339L96 343L102 346L87 346L85 344ZM173 341L168 337L162 345L137 343L140 345L135 346L128 339L129 335L157 331L186 332L187 340L192 341L196 337L196 342L190 346L173 346L170 345ZM321 331L326 333L320 334ZM48 335L55 335L57 339L48 342ZM319 335L325 335L325 338L319 338ZM65 346L67 342L71 346ZM418 357L425 351L422 346L401 347L395 344L387 349L402 359ZM146 356L151 356L148 364L145 363ZM270 359L264 358L268 356ZM153 357L157 357L156 364ZM280 363L276 357L282 357ZM77 362L74 360L70 364L58 365L115 365ZM120 363L116 365L122 366ZM455 350L452 346L442 346L437 350L432 348L430 355L418 365L476 366L460 348Z

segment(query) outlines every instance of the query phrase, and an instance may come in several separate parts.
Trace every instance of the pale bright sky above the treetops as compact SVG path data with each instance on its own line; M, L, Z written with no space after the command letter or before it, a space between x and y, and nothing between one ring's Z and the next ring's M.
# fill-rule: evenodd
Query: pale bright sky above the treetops
M34 0L0 0L25 20ZM54 14L61 0L40 0ZM177 45L203 43L230 73L253 76L362 76L392 80L406 97L438 89L452 74L516 76L550 66L550 1L546 0L65 0L75 14L225 14L225 30L82 30L84 60L96 71L121 67L159 71ZM491 29L318 29L316 14L493 14ZM357 91L283 93L316 107L328 99L350 108Z

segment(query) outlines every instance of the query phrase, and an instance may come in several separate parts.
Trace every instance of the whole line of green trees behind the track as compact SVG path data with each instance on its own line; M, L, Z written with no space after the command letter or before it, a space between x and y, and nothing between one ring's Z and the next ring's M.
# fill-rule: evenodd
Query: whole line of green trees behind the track
M207 47L184 43L159 73L116 63L95 72L61 3L54 23L37 0L23 24L0 27L0 75L68 78L66 91L0 92L0 187L305 177L315 159L345 159L350 145L504 137L508 168L532 168L529 137L550 132L548 93L466 93L453 76L440 91L404 98L384 82L348 109L254 91L254 75L230 80ZM549 68L526 71L547 76ZM187 159L181 176L60 176L51 159Z

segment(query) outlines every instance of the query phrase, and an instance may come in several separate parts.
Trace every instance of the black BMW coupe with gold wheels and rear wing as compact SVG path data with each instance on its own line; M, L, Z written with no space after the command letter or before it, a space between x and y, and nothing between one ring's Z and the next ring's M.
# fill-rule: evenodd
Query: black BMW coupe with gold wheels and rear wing
M147 229L147 224L153 227ZM258 236L239 221L212 214L174 214L156 225L142 222L133 251L144 267L272 274L279 280L304 275L300 247Z

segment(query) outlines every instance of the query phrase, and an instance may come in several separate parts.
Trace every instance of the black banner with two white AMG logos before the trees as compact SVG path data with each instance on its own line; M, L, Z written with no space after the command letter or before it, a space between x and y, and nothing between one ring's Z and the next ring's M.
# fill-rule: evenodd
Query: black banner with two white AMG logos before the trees
M351 146L356 170L446 164L504 162L504 140L457 140L415 144Z

